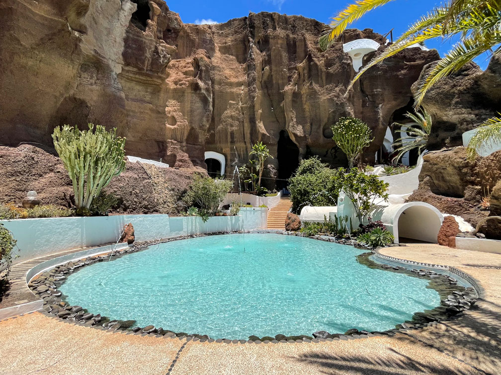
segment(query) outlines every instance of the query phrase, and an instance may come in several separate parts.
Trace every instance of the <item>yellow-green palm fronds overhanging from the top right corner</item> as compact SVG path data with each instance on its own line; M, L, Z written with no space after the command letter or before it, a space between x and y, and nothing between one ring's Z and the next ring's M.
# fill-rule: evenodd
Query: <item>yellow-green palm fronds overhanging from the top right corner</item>
M327 49L348 24L357 20L368 11L393 0L357 0L338 15L333 17L331 27L320 37L319 43ZM426 15L412 24L394 43L376 54L363 66L348 89L360 76L385 58L415 43L436 37L448 39L458 35L460 40L452 49L420 77L415 96L419 106L426 91L438 80L457 72L467 62L488 51L490 56L501 51L501 0L446 0L443 5L434 7Z

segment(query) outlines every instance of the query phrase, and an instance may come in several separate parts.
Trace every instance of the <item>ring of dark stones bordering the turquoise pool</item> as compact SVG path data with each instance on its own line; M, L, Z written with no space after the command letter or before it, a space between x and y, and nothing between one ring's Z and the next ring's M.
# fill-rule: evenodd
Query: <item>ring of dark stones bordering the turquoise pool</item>
M238 231L242 233L242 231ZM66 295L62 294L58 290L57 286L62 284L66 280L66 275L75 272L79 268L93 264L100 261L108 261L110 259L116 259L127 253L140 251L148 248L153 244L170 242L173 240L181 240L193 237L201 237L207 235L218 235L218 234L228 234L229 232L213 232L207 234L194 234L194 235L182 235L178 237L162 238L154 241L144 241L135 243L133 246L122 249L120 251L112 251L111 253L106 253L102 255L96 255L92 257L82 258L78 261L70 261L62 265L57 265L48 271L41 272L33 277L28 286L32 292L44 300L44 314L58 318L65 323L73 323L83 326L90 326L96 329L107 330L110 332L120 332L125 334L138 334L142 336L154 336L154 337L164 337L164 338L178 338L186 339L187 341L200 341L200 342L221 342L228 344L238 344L238 343L256 343L256 344L268 344L268 343L300 343L300 342L325 342L325 341L336 341L336 340L347 340L354 338L367 338L374 336L383 335L395 335L397 332L406 332L409 329L417 329L425 326L436 325L437 322L456 318L461 314L462 311L475 305L478 298L483 295L483 289L481 288L479 282L469 276L468 274L462 272L461 270L443 266L438 264L428 264L414 262L406 259L394 258L391 256L383 255L379 251L366 252L357 255L357 259L360 264L366 265L370 268L379 268L391 272L405 273L411 277L425 278L429 280L428 287L433 288L438 292L441 297L441 304L431 310L419 311L414 313L412 320L405 321L403 323L397 324L396 329L389 329L386 331L359 331L357 328L348 329L344 334L341 333L330 333L327 331L317 331L312 333L312 335L292 335L286 336L284 334L277 334L275 337L264 336L258 337L255 335L249 336L248 340L238 340L238 339L227 339L227 338L211 338L208 335L201 335L198 333L185 333L185 332L173 332L162 327L155 327L153 325L148 325L146 327L134 326L135 320L117 320L111 319L107 316L101 316L101 314L93 314L89 312L86 308L82 306L71 306L65 301ZM232 232L235 233L235 232ZM285 231L268 231L259 230L247 233L275 233L284 235L299 235L301 234L294 232ZM314 236L310 237L312 239L324 240L329 242L337 242L344 245L353 245L354 247L364 249L363 247L356 246L355 241L348 240L345 238L333 238L329 236ZM403 263L406 265L415 265L422 267L431 267L437 270L446 270L453 274L457 274L459 277L466 280L472 286L462 287L457 285L457 280L448 275L439 274L435 271L429 269L407 269L402 266L391 266L384 263L377 263L370 259L369 257L374 255L377 258L390 260L392 262Z

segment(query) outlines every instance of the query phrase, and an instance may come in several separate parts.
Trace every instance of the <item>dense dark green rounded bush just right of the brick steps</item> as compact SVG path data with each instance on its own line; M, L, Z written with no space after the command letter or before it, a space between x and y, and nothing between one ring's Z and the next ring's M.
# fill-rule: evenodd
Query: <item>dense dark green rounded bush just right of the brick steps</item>
M329 168L318 156L301 160L298 169L289 179L292 211L298 213L308 204L336 205L342 182L339 176L343 173L343 170Z

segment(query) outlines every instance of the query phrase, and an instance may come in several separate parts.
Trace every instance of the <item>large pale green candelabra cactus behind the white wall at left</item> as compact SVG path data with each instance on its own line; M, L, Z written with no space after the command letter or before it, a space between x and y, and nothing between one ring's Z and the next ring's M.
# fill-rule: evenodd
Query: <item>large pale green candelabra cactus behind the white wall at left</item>
M77 208L89 208L92 199L125 169L125 138L117 129L89 123L89 130L64 125L54 129L52 138L59 157L70 174Z

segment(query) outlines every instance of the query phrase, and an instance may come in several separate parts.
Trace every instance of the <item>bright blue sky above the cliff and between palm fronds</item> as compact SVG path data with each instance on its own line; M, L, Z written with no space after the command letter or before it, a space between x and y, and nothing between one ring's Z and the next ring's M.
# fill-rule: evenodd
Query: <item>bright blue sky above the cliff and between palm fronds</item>
M213 0L213 1L169 1L170 10L179 13L184 23L200 23L204 21L225 22L231 18L246 16L249 12L277 11L286 14L298 14L329 23L330 17L352 3L349 0L334 1L300 1L300 0ZM437 0L395 0L381 8L363 16L353 24L356 28L373 28L374 31L385 34L391 28L393 37L400 35L408 25L425 14L434 5L440 4ZM446 53L451 43L441 43L432 40L426 43L428 48L437 48L440 55ZM486 56L480 56L475 62L482 69L487 66Z

